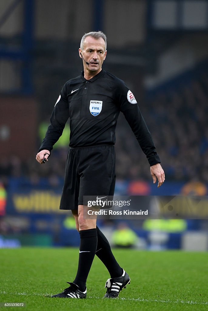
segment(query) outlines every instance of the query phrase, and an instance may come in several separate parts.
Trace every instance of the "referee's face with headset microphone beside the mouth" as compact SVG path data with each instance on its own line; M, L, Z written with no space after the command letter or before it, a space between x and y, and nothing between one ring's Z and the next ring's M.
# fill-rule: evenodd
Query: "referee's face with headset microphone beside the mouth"
M102 63L106 58L107 51L105 50L105 41L102 38L94 39L92 37L86 37L84 40L83 50L79 49L86 62L84 62L84 70L89 72L100 72L102 69Z

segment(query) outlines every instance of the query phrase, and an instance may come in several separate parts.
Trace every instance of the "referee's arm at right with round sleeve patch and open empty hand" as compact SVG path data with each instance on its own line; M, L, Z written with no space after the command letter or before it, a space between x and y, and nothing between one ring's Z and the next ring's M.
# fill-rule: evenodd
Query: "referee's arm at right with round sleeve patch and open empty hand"
M127 122L129 123L137 141L142 148L142 151L147 156L147 160L150 164L150 173L153 179L153 183L156 183L158 179L158 188L165 181L165 174L160 165L161 161L156 152L156 148L149 132L147 125L142 117L141 111L138 107L137 101L133 96L133 93L129 91L124 84L118 93L118 102L120 111L123 112Z

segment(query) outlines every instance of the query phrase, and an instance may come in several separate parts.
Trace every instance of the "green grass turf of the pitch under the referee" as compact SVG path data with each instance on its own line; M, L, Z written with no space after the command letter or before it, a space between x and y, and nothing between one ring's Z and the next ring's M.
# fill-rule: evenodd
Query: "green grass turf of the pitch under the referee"
M118 299L102 299L109 277L95 256L87 281L87 299L50 298L73 281L77 248L1 249L0 302L20 303L21 310L207 310L207 253L147 252L115 249L131 277ZM2 307L17 310L17 307Z

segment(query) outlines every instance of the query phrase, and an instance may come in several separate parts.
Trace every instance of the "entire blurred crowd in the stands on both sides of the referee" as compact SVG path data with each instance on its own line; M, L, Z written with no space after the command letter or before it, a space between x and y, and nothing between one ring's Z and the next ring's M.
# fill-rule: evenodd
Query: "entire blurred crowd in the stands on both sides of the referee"
M170 181L200 180L208 183L208 77L182 86L177 92L165 91L153 99L139 102L147 126L160 155L165 177ZM49 120L48 120L49 121ZM38 133L37 133L38 136ZM149 164L124 116L116 129L116 175L118 179L151 181ZM38 150L38 146L37 146ZM36 154L21 162L8 155L0 162L0 179L7 186L8 177L24 177L32 185L47 178L52 187L61 185L68 146L55 149L44 165Z

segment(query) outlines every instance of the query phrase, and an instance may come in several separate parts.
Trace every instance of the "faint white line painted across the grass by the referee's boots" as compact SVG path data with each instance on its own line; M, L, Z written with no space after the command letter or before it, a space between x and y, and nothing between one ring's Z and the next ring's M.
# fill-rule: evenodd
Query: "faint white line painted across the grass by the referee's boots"
M1 291L1 294L7 294L4 291ZM48 294L48 293L45 293L45 294L39 294L39 293L35 293L33 292L32 294L26 294L26 293L12 293L12 292L9 292L8 294L12 294L12 295L25 295L25 296L51 296L52 294ZM93 297L93 296L88 296L87 298L96 298L96 299L103 299L103 297ZM176 301L171 301L170 299L168 300L158 300L158 299L146 299L146 298L124 298L124 297L118 297L117 298L118 300L126 300L126 301L147 301L147 302L160 302L160 303L165 303L165 304L168 304L168 303L171 303L171 304L208 304L208 302L197 302L197 301L184 301L184 300L180 300L180 299L177 299Z

